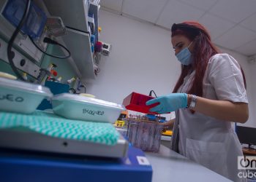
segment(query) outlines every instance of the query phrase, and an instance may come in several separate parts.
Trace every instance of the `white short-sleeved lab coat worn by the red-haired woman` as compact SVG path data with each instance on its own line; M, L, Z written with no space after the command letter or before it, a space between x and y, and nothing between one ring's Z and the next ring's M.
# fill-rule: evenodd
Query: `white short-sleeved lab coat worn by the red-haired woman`
M179 92L187 92L194 75L195 71L184 79ZM230 55L217 54L209 60L203 98L248 103L241 68ZM246 181L238 178L237 157L243 153L232 122L192 114L189 109L177 112L179 153L232 181Z

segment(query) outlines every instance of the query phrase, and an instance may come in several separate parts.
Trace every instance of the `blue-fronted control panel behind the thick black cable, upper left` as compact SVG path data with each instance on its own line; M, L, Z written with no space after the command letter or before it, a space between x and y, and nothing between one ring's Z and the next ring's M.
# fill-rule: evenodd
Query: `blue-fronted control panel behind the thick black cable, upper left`
M4 39L10 39L12 36L16 25L18 25L18 22L20 21L19 18L23 15L25 4L26 1L24 0L0 1L0 34ZM45 29L43 29L45 19L46 17L44 13L33 1L28 23L23 26L14 42L15 46L18 47L18 50L29 55L31 59L36 60L37 62L40 62L42 52L37 50L37 47L32 44L27 34L37 42L42 50L46 50L47 44L42 42L45 37Z

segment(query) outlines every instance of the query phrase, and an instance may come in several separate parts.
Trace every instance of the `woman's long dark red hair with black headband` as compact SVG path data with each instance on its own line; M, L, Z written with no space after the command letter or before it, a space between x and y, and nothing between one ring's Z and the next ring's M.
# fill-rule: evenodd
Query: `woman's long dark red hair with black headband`
M189 66L181 65L181 75L176 82L176 86L173 92L177 92L178 88L184 82L185 76L195 70L194 79L190 85L188 94L203 96L203 77L206 73L208 60L219 53L217 47L211 42L211 36L206 28L195 21L187 21L184 23L173 24L171 29L171 37L176 35L186 36L187 39L194 42L194 48L192 52L192 64ZM244 71L241 69L244 78L244 85L246 87L246 80Z

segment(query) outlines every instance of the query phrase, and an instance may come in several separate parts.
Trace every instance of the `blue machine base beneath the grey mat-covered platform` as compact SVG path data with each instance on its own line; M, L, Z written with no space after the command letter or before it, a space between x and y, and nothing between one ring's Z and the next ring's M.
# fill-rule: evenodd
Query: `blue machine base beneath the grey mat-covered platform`
M122 159L0 151L0 175L1 181L151 182L152 167L143 151L132 146Z

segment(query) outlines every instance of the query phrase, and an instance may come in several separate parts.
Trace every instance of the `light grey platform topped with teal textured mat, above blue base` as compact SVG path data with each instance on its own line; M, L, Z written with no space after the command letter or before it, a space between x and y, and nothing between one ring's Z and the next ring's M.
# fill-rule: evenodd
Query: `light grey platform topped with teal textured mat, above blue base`
M0 118L2 148L94 157L127 155L127 141L110 123L75 121L44 111L1 112Z

